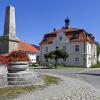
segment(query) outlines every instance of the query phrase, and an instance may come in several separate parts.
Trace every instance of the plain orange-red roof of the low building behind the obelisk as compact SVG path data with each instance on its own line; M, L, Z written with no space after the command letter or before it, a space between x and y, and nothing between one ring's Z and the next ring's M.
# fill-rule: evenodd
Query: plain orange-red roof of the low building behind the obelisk
M39 50L26 42L20 41L18 45L18 50L22 50L25 52L38 52Z

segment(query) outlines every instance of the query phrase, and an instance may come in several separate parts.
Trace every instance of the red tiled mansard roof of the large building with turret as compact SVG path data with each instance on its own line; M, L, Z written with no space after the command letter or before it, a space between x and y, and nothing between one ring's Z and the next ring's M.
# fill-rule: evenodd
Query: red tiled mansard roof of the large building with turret
M43 40L40 42L40 45L50 44L53 39L56 37L56 34L59 32L66 33L66 36L69 38L70 42L82 42L88 41L90 43L94 42L94 37L92 34L87 33L84 29L78 28L62 28L60 30L56 30L55 32L51 32L49 34L45 34ZM75 38L73 33L78 32L79 38Z

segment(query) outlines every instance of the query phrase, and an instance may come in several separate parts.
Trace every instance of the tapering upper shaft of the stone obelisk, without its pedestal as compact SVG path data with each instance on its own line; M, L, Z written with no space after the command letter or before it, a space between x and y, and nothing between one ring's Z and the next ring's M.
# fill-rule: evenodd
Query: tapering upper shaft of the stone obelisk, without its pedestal
M8 6L5 13L4 35L16 34L15 8Z

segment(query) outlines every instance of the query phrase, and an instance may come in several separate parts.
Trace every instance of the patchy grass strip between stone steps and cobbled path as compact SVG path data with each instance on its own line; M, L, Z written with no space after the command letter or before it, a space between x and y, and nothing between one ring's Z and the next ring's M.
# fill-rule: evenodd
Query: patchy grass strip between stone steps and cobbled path
M0 96L9 96L20 93L31 92L36 89L48 86L50 84L57 84L61 79L53 76L44 75L43 80L45 82L44 86L30 85L30 86L11 86L11 87L0 88Z

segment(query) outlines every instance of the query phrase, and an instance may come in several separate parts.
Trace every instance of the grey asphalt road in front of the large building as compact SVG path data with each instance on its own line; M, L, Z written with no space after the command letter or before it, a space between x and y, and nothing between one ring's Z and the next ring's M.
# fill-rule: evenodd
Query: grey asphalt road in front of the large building
M86 81L100 90L100 69L35 69L36 72L69 76Z

